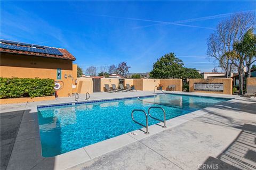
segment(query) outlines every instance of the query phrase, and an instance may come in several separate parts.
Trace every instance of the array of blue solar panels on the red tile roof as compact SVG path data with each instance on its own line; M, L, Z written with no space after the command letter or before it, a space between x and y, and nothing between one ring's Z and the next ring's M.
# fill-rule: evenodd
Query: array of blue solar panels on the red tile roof
M9 44L2 44L1 43L0 48L22 50L22 51L25 51L25 52L53 54L53 55L60 55L60 56L63 55L57 48L50 48L50 47L46 47L45 49L40 49L40 48L15 46L15 45L9 45Z

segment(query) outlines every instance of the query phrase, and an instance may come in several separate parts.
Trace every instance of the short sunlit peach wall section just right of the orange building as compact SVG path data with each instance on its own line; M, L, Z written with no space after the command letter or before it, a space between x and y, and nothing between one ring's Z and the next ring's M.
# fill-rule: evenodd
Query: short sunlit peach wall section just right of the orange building
M78 94L92 94L93 91L93 81L92 79L77 79L77 93Z

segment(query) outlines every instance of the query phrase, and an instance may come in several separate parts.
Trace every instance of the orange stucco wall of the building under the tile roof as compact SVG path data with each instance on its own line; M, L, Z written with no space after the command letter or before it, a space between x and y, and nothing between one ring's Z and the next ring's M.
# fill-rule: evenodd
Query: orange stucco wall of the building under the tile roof
M58 96L68 97L72 95L72 78L65 78L65 74L71 75L74 80L77 78L77 67L73 66L71 60L1 53L0 62L0 76L5 78L49 78L57 80L57 69L61 69L60 81L63 81L64 87L58 90Z

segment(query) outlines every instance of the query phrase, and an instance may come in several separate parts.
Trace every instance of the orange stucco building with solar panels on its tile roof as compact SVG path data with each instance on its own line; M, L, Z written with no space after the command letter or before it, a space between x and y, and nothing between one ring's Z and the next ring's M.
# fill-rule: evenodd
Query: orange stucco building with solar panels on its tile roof
M50 78L61 82L58 97L75 92L76 58L67 49L0 40L0 76L4 78Z

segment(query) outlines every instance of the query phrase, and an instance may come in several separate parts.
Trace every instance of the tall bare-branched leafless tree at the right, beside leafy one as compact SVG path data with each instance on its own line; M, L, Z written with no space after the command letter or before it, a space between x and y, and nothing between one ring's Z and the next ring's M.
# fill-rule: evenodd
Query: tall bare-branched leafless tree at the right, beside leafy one
M233 61L227 55L233 51L234 43L255 25L254 13L244 12L231 15L217 25L217 30L207 39L207 55L219 62L226 77L231 77Z

